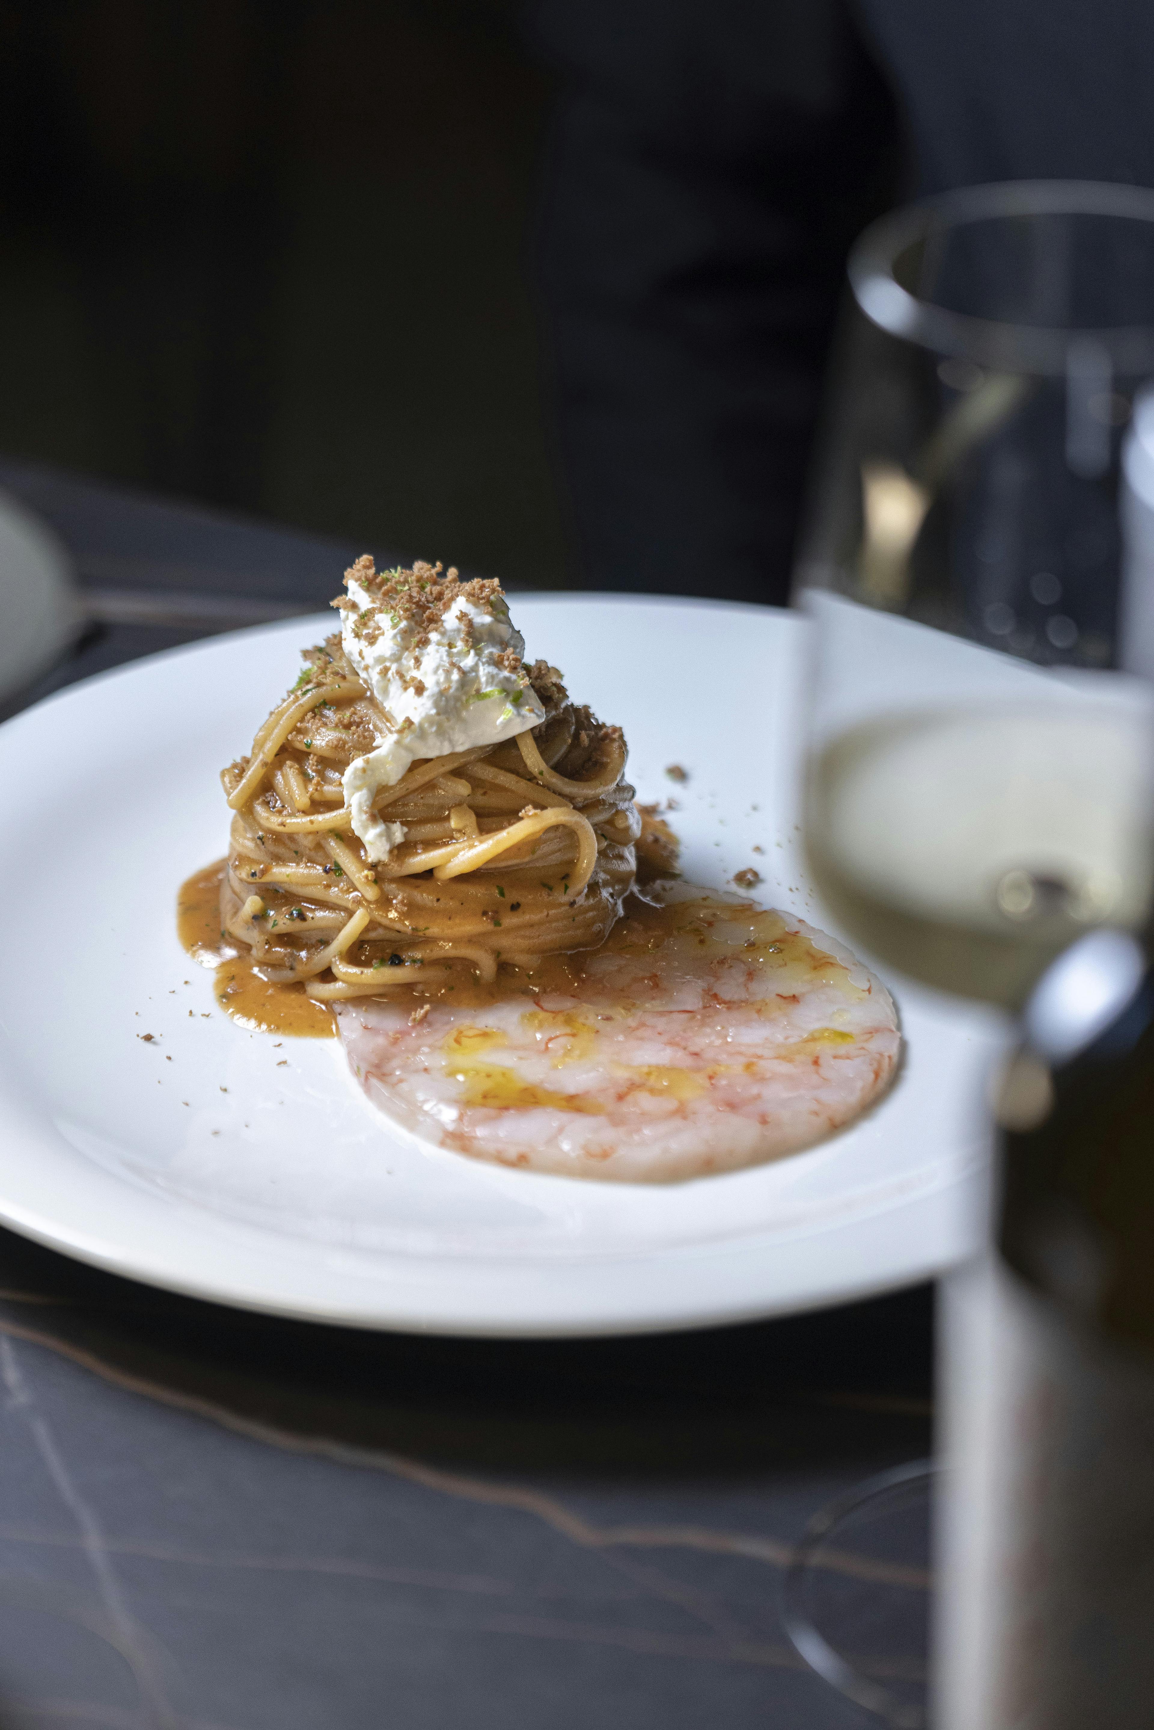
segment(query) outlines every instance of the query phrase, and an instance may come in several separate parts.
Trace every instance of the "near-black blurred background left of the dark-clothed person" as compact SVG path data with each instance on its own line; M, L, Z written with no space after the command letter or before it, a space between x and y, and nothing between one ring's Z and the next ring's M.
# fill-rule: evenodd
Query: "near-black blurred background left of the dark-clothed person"
M0 450L559 583L517 0L0 7Z

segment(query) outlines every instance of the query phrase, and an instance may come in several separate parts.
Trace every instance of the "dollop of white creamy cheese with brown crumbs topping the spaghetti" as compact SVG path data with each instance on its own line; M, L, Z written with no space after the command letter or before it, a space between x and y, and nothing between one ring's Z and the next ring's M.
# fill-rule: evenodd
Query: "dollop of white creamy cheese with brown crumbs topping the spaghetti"
M341 644L394 732L349 763L343 787L355 834L370 860L384 862L405 839L405 825L374 813L382 787L396 785L417 758L495 746L536 727L545 711L524 671L509 664L509 650L517 659L524 654L524 638L500 592L469 595L417 566L414 616L374 593L370 567L365 581L356 569L348 576L351 606L341 612ZM443 612L427 606L438 593L453 597Z

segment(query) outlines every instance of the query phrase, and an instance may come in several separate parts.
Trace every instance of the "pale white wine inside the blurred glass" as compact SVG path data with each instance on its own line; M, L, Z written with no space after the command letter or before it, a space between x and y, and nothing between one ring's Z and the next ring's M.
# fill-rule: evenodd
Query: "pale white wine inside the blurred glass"
M811 765L810 865L839 922L893 967L1017 1009L1088 926L1140 924L1147 785L1142 708L879 716Z

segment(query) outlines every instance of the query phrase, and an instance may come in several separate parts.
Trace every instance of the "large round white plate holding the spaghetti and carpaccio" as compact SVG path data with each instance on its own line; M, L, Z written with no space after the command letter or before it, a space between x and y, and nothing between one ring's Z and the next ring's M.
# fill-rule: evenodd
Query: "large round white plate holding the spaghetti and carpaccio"
M756 863L825 924L796 830L801 619L519 597L529 652L676 792L685 875ZM936 1273L972 1242L1000 1022L900 991L907 1054L862 1123L780 1164L670 1187L536 1176L410 1140L327 1040L249 1035L175 934L220 856L220 765L330 619L138 661L0 728L16 952L0 1009L0 1220L85 1261L284 1315L453 1334L604 1334L765 1317ZM689 782L664 777L682 763ZM28 950L24 950L28 945ZM12 952L10 952L12 953ZM152 1033L152 1041L140 1035Z

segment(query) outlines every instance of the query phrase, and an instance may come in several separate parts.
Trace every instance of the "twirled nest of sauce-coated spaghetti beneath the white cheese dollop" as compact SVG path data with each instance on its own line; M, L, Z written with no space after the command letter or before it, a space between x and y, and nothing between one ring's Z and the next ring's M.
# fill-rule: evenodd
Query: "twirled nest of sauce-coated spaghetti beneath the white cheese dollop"
M381 789L374 810L405 839L374 865L341 777L388 721L339 635L305 661L251 756L221 775L234 808L221 924L265 979L322 1000L375 996L414 984L414 967L491 981L498 964L531 972L604 941L640 834L619 727L569 702L538 661L545 720L531 732L415 761Z

